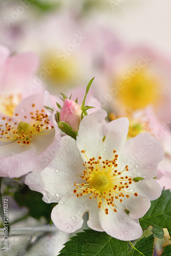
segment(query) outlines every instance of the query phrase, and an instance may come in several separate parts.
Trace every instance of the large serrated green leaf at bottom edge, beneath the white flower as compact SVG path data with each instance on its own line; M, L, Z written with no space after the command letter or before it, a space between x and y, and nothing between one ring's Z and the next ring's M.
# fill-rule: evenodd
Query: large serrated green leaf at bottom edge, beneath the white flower
M60 256L126 256L129 246L126 241L110 237L105 232L84 230L71 238L60 251Z

